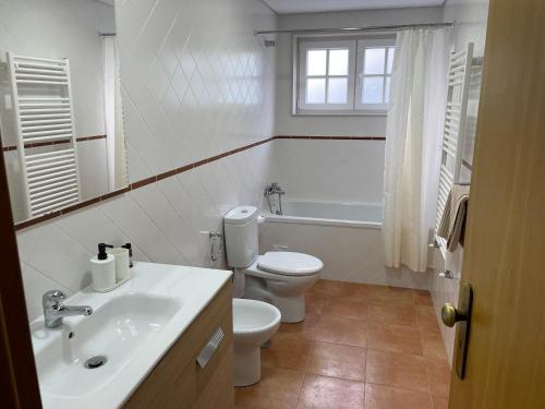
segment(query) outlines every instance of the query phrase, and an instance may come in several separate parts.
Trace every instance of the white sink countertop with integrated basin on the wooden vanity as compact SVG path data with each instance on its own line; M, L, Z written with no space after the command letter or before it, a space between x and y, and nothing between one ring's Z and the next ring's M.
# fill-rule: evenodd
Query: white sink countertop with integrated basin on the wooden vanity
M122 405L230 275L136 263L133 278L116 290L86 289L65 300L90 305L92 315L64 317L55 329L45 328L43 318L32 323L44 407ZM95 357L106 360L86 368Z

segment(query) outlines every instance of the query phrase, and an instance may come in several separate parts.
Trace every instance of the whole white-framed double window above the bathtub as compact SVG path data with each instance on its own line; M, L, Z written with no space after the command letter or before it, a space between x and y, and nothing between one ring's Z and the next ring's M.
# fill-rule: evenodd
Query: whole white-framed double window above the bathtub
M393 38L299 41L295 113L385 113Z

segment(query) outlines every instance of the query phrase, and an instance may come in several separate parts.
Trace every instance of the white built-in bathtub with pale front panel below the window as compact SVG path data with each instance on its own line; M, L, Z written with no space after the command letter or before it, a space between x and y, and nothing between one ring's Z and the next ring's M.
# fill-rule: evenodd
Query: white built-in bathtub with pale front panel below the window
M320 276L326 279L429 288L427 274L384 266L379 204L289 199L282 202L282 216L266 212L266 202L263 206L259 254L288 250L315 255L324 262Z

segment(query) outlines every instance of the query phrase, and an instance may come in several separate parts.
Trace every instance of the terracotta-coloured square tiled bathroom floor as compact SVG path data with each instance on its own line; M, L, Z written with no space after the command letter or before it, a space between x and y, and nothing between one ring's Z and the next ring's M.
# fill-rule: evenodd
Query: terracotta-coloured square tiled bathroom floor
M450 369L426 291L319 280L306 320L262 350L238 409L446 409Z

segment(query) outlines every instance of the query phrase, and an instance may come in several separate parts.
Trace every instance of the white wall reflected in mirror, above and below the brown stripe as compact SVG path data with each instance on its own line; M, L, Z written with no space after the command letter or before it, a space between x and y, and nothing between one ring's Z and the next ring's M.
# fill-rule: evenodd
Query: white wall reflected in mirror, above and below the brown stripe
M102 44L98 33L116 32L114 10L96 0L0 0L0 60L5 52L43 58L69 58L75 135L102 135L104 71ZM2 145L16 145L10 86L0 81ZM95 140L78 146L83 199L108 192L106 145ZM78 144L82 145L82 144ZM35 154L45 148L33 149ZM23 177L17 153L4 154L10 197L15 220L25 218Z

